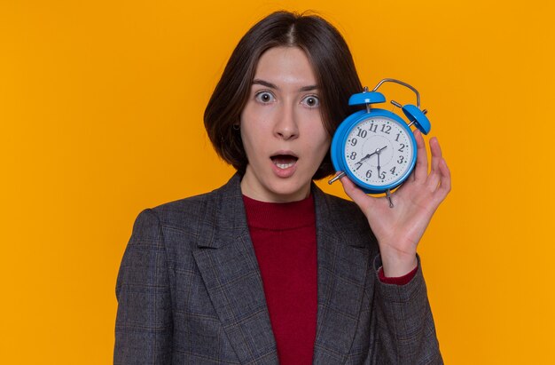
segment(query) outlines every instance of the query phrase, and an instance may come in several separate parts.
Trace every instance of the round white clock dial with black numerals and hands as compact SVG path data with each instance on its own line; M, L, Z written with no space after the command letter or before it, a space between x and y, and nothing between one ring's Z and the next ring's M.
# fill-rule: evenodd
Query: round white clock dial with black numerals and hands
M415 152L408 133L400 123L384 116L357 123L345 143L348 170L366 184L394 184L410 169Z

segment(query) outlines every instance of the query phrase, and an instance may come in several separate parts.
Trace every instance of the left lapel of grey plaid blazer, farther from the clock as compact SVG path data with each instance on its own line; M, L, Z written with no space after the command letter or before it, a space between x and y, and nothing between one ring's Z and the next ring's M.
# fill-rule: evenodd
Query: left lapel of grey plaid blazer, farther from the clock
M223 330L241 363L277 363L262 278L236 174L214 194L193 256Z

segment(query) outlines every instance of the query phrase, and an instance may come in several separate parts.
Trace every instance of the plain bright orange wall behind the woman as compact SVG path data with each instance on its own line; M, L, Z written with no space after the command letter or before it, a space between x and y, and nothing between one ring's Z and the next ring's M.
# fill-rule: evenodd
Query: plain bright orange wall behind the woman
M454 179L419 248L445 361L552 361L548 1L187 3L0 2L0 363L111 361L134 218L231 176L202 113L238 38L281 8L338 26L363 83L422 94Z

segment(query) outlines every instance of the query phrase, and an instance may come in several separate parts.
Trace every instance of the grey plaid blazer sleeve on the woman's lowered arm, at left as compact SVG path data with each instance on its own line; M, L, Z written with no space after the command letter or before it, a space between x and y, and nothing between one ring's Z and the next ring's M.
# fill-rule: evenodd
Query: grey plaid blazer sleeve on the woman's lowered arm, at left
M114 364L168 364L172 311L160 219L142 211L123 254L116 284Z

